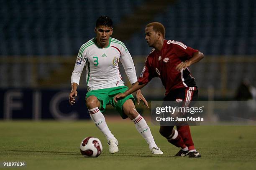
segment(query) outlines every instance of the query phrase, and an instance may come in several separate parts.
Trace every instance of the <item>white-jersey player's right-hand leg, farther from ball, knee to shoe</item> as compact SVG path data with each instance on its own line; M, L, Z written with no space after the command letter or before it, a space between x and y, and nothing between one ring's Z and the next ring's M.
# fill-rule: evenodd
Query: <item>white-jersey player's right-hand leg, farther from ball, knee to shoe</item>
M144 120L144 118L135 109L133 100L128 99L124 102L123 112L133 121L138 133L140 133L148 143L151 152L153 154L163 154L163 152L157 147L146 120Z

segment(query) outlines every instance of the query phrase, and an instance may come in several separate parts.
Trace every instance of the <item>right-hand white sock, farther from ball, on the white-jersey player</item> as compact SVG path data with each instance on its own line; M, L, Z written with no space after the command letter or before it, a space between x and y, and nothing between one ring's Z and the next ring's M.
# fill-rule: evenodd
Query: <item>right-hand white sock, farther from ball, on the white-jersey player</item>
M133 122L136 129L138 130L138 133L140 133L148 143L149 149L151 150L153 147L158 149L145 119L139 114L136 118L133 119Z

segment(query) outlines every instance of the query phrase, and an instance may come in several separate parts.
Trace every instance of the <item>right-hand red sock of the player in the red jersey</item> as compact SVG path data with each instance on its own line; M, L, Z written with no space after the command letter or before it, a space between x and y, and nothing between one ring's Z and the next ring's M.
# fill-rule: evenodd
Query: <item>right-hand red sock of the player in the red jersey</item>
M191 134L190 134L189 126L188 125L177 126L177 130L178 130L181 138L183 139L184 144L187 145L189 150L195 149L195 146L194 146Z

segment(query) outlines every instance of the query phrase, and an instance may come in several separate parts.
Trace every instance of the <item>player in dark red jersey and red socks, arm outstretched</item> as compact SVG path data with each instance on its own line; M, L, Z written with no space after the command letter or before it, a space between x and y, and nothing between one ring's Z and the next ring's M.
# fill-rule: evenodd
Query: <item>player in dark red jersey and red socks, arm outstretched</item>
M200 61L202 52L187 47L182 42L165 40L165 28L161 23L149 23L145 28L145 39L149 47L153 47L146 58L145 66L138 81L124 93L114 97L115 102L144 87L153 77L159 77L166 89L166 101L197 100L198 90L195 78L190 75L187 67ZM147 105L147 103L146 103ZM201 157L195 150L188 125L160 126L160 134L169 143L181 148L175 156L190 158Z

